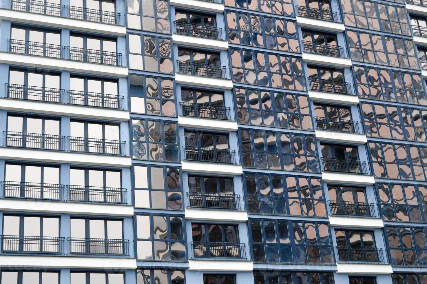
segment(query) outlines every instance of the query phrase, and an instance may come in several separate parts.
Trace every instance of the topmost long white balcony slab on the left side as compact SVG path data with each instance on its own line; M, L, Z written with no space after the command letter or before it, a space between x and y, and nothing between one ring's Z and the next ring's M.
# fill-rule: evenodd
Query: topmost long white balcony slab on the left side
M0 19L11 20L15 22L18 21L20 23L73 29L84 32L96 32L106 35L126 36L126 26L97 23L94 21L43 15L38 13L21 12L11 9L0 9Z

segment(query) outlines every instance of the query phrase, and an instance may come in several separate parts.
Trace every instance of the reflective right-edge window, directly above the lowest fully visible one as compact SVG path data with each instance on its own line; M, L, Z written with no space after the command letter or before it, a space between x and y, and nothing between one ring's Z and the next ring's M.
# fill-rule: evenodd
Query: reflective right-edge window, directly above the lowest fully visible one
M411 223L427 221L427 187L376 183L375 189L383 220Z

